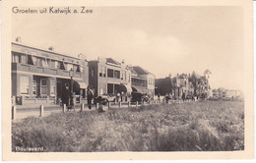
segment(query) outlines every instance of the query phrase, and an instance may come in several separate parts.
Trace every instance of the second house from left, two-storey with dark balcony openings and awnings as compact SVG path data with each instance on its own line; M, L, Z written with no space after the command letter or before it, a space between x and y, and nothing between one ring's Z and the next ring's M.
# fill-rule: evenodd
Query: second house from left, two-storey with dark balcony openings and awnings
M89 85L95 95L131 93L131 71L124 62L98 58L89 62Z

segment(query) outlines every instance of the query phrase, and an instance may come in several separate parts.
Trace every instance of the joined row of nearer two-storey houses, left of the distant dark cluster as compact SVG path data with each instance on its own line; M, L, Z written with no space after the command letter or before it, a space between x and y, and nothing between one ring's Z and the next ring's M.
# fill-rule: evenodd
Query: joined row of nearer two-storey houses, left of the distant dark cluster
M66 86L73 88L78 103L86 101L88 86L96 96L132 91L154 96L155 75L112 58L88 61L83 54L71 57L52 47L41 49L23 44L20 38L12 42L14 104L57 104Z

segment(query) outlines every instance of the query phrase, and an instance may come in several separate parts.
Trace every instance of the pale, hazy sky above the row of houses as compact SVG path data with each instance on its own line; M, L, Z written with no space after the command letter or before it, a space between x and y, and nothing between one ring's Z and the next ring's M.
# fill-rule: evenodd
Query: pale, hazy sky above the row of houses
M164 78L212 72L212 88L243 88L239 7L95 7L83 14L13 14L12 39L89 60L111 57Z

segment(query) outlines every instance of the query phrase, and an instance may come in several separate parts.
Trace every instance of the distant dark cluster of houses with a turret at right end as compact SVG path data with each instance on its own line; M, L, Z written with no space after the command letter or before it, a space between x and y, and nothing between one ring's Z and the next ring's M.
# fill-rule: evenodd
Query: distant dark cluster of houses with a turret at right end
M207 98L212 96L210 86L211 72L206 70L203 76L195 72L192 74L177 74L174 77L166 77L156 80L156 94L171 95L174 99L180 99L182 94L186 98Z

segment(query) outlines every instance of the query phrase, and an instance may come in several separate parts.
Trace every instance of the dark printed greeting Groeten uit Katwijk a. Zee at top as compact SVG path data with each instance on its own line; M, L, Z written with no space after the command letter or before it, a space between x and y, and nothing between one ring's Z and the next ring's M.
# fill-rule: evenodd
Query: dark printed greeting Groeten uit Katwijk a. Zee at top
M93 14L94 10L85 6L81 7L48 7L48 8L25 8L14 6L12 8L14 14Z

